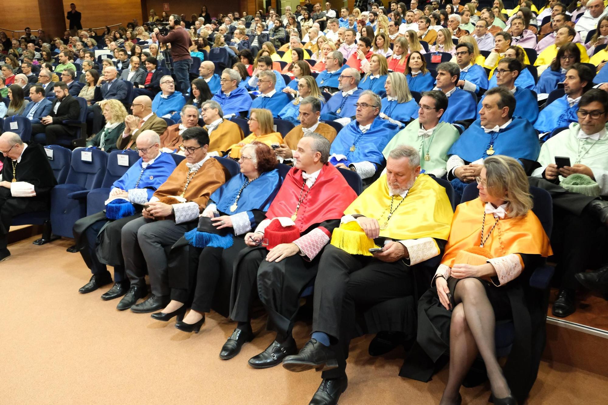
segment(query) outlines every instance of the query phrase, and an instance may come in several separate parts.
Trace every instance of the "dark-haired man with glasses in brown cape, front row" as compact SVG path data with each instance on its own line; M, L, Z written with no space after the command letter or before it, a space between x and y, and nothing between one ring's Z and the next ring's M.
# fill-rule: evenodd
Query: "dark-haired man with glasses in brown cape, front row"
M217 159L207 154L206 130L188 128L182 139L186 158L144 204L142 218L130 221L122 229L122 254L131 287L116 307L120 311L131 308L135 313L150 313L167 306L171 289L165 248L197 226L209 196L230 176ZM146 269L152 294L136 304L148 293Z

